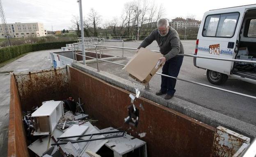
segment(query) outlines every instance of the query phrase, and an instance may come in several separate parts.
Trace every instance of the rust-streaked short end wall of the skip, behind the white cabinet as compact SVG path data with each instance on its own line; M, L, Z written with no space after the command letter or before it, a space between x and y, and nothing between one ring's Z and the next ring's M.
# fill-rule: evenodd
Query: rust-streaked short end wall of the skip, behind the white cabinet
M70 96L67 69L14 73L23 111L41 106L48 100L64 100Z

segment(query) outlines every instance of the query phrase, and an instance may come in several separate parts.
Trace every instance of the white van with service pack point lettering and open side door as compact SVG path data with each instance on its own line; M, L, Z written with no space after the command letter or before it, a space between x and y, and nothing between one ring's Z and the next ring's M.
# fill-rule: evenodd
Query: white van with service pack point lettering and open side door
M204 13L194 55L256 61L256 4ZM194 66L207 69L212 84L228 76L256 83L256 64L194 57Z

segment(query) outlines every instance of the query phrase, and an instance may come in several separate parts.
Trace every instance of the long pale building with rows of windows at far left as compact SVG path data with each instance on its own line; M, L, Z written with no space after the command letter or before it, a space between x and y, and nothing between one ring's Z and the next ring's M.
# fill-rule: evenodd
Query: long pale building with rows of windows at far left
M6 26L8 35L11 38L41 37L47 34L43 23L39 22L15 22L14 24L6 24ZM3 24L0 24L0 38L6 38Z

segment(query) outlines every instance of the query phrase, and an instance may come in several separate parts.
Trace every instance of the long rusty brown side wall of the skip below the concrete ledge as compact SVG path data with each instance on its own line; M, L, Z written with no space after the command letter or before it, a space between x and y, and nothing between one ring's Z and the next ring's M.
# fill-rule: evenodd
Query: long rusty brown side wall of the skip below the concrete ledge
M137 107L142 103L145 109L138 107L138 127L124 124L130 92L78 69L69 69L72 95L75 100L82 98L85 112L98 119L99 128L122 126L137 138L138 133L146 132L142 140L147 142L149 157L213 156L215 128L143 97L135 102Z

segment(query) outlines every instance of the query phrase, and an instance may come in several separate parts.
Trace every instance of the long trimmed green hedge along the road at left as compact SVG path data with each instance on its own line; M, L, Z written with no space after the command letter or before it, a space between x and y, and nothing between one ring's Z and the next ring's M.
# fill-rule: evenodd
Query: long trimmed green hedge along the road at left
M23 44L18 46L9 46L6 48L0 49L0 63L11 60L12 58L18 57L24 53L47 50L47 49L60 49L61 47L66 46L66 44L72 44L77 42L45 42L45 43L36 43L36 44Z

